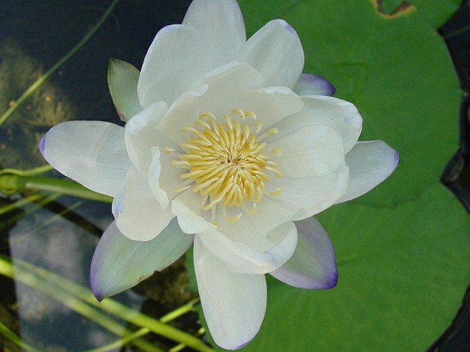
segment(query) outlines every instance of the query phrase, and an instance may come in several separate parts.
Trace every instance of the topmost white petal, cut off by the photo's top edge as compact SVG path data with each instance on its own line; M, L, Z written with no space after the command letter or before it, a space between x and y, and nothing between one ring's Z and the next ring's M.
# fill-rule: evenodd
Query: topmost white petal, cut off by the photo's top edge
M235 0L193 0L183 25L190 25L204 36L214 67L233 60L246 41L242 11Z

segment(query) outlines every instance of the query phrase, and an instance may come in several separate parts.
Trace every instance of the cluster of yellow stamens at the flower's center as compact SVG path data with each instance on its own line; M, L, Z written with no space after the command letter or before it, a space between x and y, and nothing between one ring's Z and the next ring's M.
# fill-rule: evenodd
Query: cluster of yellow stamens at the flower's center
M183 129L190 136L187 142L180 143L184 153L175 154L172 165L183 167L187 172L180 174L180 179L185 181L176 191L192 187L203 197L203 210L212 210L215 216L215 206L221 205L224 218L237 221L241 213L228 217L225 207L237 206L255 212L256 203L263 197L268 173L281 176L277 164L264 152L266 142L262 141L277 133L277 129L258 136L261 122L253 112L240 109L233 110L231 116L222 115L220 120L211 112L204 112L198 116L195 127ZM165 150L174 151L169 147ZM272 152L281 153L279 150ZM251 208L246 208L245 202L249 202Z

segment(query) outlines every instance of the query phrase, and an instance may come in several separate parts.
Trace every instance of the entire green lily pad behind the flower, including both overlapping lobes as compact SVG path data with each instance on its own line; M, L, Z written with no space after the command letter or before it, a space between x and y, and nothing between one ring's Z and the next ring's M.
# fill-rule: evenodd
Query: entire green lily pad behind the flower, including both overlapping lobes
M461 92L436 28L460 1L239 1L248 34L271 18L296 29L305 71L364 117L362 139L400 153L375 190L318 218L336 249L326 291L269 280L261 331L244 351L424 351L468 284L470 220L440 174L458 149ZM261 10L257 10L261 8Z

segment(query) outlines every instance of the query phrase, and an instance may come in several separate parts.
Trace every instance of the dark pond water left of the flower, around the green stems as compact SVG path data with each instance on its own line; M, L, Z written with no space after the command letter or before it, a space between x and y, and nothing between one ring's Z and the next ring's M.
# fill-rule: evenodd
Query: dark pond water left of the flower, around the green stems
M108 60L119 58L140 67L158 29L180 22L189 2L118 3L92 38L0 126L1 168L26 170L44 165L38 141L60 121L119 123L106 81ZM1 114L80 42L111 3L109 0L1 1ZM46 175L58 176L54 171ZM124 329L129 327L126 320L99 308L90 309L89 305L83 308L80 299L74 300L70 298L73 294L67 294L67 280L89 288L91 256L103 229L112 221L110 204L58 194L35 197L30 192L22 192L21 196L0 198L0 209L3 263L0 265L3 268L0 350L86 351L119 341ZM14 281L4 274L11 268L9 258ZM25 268L25 262L34 266ZM41 276L34 272L36 268L47 272ZM141 311L158 318L196 297L194 292L189 292L187 281L183 260L115 299L136 314ZM64 289L58 288L58 282L65 285ZM69 290L76 293L79 288L70 286ZM102 320L93 321L93 317ZM108 325L103 324L108 321L106 318L110 320ZM193 334L200 328L195 312L185 314L174 325ZM7 330L21 336L25 345L19 347L13 343L11 336L7 337ZM175 345L176 342L160 339L154 344L154 350L158 346L169 349ZM106 351L131 349L141 350L135 346L115 346Z

